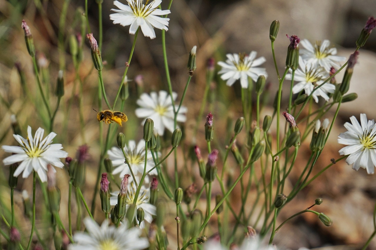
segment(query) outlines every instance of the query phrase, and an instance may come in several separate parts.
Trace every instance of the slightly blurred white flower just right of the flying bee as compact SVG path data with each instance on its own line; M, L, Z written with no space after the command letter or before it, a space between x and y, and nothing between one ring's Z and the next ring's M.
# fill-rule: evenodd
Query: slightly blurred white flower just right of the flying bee
M172 92L172 97L175 101L177 93ZM159 94L156 92L151 92L150 95L147 93L142 93L140 98L137 100L137 104L141 108L136 108L136 116L139 118L145 118L141 124L145 123L147 118L150 118L154 122L154 128L157 130L159 135L163 135L165 128L174 131L174 110L171 102L171 97L164 90L160 90ZM179 105L175 105L177 109ZM179 113L177 114L178 122L185 122L185 113L187 108L184 106L180 107Z

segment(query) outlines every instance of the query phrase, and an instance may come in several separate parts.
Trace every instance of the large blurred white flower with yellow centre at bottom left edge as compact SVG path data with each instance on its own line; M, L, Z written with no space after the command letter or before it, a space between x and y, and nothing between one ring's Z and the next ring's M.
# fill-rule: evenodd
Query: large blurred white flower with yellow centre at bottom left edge
M140 237L141 230L129 228L126 222L118 227L109 226L109 221L103 221L99 226L90 217L83 220L87 232L76 232L73 235L74 244L68 245L68 250L141 250L149 247L147 238Z

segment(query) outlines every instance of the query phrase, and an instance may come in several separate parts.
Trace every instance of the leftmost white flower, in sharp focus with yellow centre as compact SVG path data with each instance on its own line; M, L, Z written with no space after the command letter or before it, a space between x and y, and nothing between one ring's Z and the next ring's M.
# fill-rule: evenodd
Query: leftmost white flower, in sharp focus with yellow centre
M64 164L59 158L65 158L68 153L62 151L61 144L52 144L52 139L56 133L51 132L43 139L44 129L38 128L35 135L31 134L31 127L27 126L27 137L24 139L18 134L14 134L14 139L20 143L21 146L2 146L5 152L13 153L13 155L6 157L3 160L4 165L11 165L13 163L21 162L15 170L13 176L17 177L22 173L23 178L27 178L34 170L38 173L42 182L47 181L47 164L62 168ZM56 173L56 170L52 168Z

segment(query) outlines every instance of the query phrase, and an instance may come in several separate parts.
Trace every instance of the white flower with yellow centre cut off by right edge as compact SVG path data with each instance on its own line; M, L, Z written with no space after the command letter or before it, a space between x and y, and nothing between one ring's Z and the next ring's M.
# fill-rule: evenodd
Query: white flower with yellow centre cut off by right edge
M346 163L353 164L353 169L362 167L368 174L374 173L376 166L376 126L374 120L368 120L365 114L360 114L360 124L355 116L344 124L347 131L338 136L338 143L348 145L342 148L340 155L349 155Z

